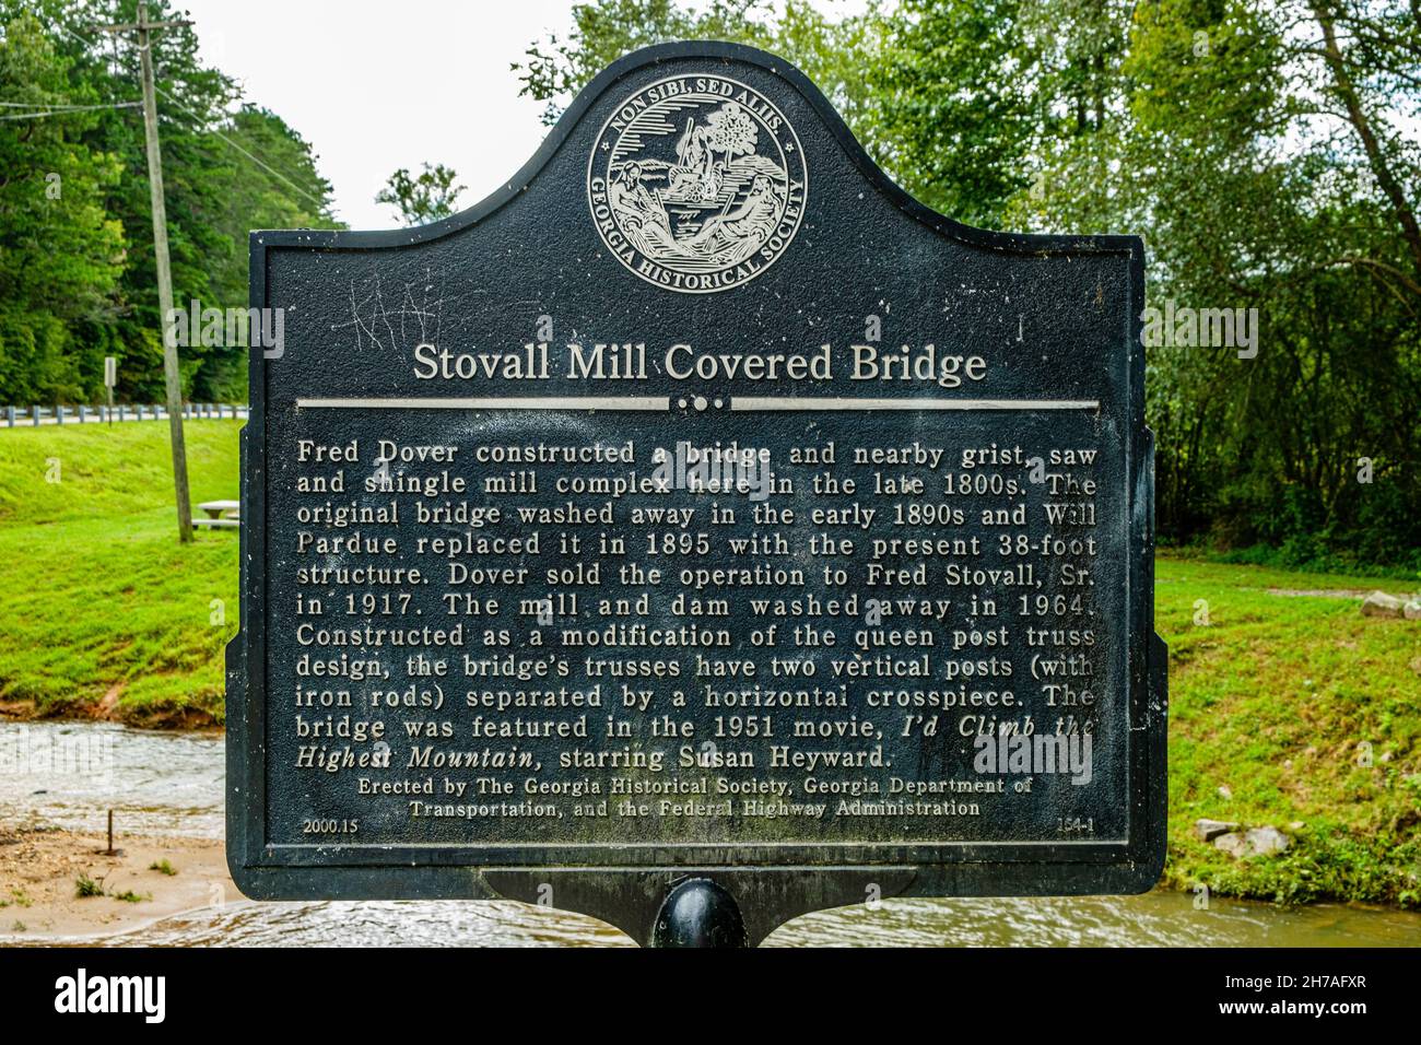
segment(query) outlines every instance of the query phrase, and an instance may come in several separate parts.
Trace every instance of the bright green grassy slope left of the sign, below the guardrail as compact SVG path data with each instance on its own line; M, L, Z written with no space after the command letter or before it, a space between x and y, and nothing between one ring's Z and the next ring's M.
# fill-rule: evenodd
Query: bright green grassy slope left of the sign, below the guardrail
M193 502L237 496L240 428L185 425ZM0 432L0 700L11 712L220 721L237 536L199 532L179 547L171 461L162 422Z

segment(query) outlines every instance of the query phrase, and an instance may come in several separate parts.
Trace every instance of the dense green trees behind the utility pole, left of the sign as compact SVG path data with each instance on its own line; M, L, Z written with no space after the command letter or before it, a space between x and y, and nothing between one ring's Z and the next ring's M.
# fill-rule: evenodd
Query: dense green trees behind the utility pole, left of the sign
M166 1L149 17L173 18ZM135 0L0 0L0 402L162 398L156 264ZM246 307L247 230L331 226L311 148L198 57L192 27L153 34L173 299ZM23 108L20 102L33 102ZM92 105L60 112L51 105ZM183 390L246 394L242 345L185 345Z

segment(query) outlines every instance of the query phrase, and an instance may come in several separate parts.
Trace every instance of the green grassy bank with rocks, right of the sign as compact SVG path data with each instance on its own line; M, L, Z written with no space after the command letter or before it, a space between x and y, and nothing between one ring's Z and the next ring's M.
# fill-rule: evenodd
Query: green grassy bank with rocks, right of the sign
M1421 907L1421 623L1363 617L1354 599L1280 594L1373 587L1415 586L1158 562L1169 883ZM1194 837L1199 818L1272 825L1293 845L1233 860Z

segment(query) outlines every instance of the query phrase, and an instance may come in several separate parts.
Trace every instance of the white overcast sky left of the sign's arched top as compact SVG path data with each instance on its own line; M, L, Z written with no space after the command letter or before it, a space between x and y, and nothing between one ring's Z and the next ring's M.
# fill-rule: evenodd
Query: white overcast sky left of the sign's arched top
M203 60L237 80L314 148L337 218L398 225L375 193L398 168L445 164L459 208L493 192L547 134L543 104L519 98L510 68L573 0L178 0ZM836 14L855 3L821 4Z

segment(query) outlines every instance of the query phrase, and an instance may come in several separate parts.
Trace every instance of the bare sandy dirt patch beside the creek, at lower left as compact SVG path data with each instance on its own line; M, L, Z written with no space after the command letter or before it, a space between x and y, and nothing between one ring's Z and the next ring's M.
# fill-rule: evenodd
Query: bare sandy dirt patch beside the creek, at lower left
M240 899L220 840L119 836L114 845L119 854L105 856L99 835L0 826L0 944L111 936ZM81 879L102 894L81 897Z

